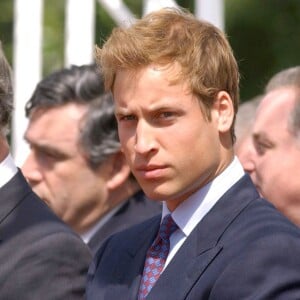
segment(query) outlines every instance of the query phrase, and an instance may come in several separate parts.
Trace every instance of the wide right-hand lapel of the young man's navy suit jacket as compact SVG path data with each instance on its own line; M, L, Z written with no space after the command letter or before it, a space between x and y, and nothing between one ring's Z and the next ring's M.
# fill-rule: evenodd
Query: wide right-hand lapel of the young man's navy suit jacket
M222 251L219 241L224 231L258 197L250 178L245 175L196 226L150 291L147 300L159 299L160 295L164 299L172 299L174 291L176 299L185 299L208 265Z

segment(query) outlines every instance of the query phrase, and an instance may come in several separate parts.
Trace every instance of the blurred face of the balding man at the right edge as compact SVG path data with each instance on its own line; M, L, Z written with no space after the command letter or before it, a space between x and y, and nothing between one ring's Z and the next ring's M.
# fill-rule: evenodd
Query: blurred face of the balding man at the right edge
M245 170L265 198L300 224L300 144L288 125L295 97L294 89L281 88L263 98Z

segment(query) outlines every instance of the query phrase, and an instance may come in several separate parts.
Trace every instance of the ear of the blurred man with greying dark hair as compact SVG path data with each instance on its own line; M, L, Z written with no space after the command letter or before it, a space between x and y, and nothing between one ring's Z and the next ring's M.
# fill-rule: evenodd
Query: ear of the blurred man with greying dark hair
M110 157L110 176L106 183L108 189L116 189L122 185L130 175L130 168L124 154L119 151Z

